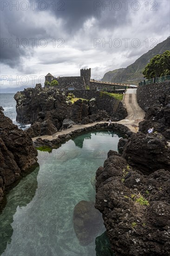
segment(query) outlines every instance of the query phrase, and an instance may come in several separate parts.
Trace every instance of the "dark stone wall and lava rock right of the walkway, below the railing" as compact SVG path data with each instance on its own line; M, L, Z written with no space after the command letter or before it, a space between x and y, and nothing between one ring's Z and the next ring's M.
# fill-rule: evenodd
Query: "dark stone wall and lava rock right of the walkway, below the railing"
M147 133L154 127L154 131L170 140L170 82L139 86L137 102L146 112L139 131Z

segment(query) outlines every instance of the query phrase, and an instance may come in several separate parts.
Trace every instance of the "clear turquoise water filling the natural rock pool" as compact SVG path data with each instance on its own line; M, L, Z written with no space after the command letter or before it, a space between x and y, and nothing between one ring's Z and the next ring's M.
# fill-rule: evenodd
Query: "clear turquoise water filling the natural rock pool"
M92 132L67 141L52 153L40 152L39 168L24 177L7 195L0 215L3 256L96 256L95 238L82 246L73 228L78 202L95 201L96 170L121 136ZM95 227L95 223L93 224Z

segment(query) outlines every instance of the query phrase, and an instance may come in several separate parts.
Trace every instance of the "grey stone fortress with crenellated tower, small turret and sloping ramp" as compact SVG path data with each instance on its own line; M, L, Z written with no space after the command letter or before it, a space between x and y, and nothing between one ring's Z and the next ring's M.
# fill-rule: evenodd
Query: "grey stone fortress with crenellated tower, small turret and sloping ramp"
M117 90L134 88L134 86L120 83L112 83L105 81L96 81L91 79L91 68L80 69L80 76L58 76L54 77L48 73L45 76L45 81L51 82L57 80L59 82L59 90L85 90L85 89L96 89L96 90ZM48 87L48 86L47 86ZM135 86L136 87L136 86Z

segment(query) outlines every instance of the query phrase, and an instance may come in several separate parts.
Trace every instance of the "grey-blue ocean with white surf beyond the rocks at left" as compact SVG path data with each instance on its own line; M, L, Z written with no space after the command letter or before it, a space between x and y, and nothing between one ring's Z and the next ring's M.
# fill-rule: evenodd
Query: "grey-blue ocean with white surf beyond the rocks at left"
M16 101L13 96L15 94L0 94L0 106L4 109L3 113L7 117L9 117L13 124L18 125L20 129L25 130L30 127L30 124L22 124L16 121L17 113L16 113Z

